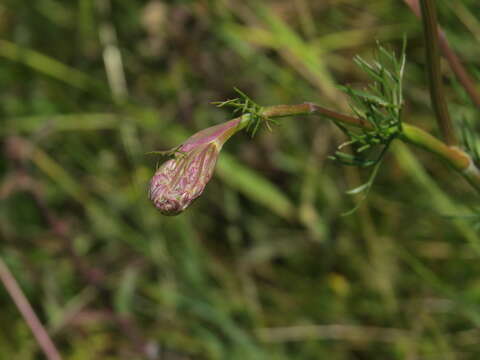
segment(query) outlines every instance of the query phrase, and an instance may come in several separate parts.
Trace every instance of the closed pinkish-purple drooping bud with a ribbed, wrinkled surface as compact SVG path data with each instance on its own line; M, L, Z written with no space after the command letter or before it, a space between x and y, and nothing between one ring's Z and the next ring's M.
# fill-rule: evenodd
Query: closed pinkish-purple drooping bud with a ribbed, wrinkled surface
M223 144L243 127L242 119L199 131L163 163L150 180L149 197L164 215L177 215L198 198L213 175Z

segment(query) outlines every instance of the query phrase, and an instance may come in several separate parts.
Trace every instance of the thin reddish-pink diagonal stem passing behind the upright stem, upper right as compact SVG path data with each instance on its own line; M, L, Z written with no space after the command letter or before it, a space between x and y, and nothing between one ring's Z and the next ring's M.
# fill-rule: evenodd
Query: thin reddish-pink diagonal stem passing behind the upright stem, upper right
M418 0L403 0L412 10L412 12L417 16L421 17L420 3ZM437 26L438 38L440 43L440 50L442 51L443 56L447 60L450 68L457 77L458 81L464 87L468 96L475 104L476 107L480 108L480 92L475 86L475 82L472 77L465 69L462 61L459 56L453 51L450 47L445 32L441 29L440 26Z

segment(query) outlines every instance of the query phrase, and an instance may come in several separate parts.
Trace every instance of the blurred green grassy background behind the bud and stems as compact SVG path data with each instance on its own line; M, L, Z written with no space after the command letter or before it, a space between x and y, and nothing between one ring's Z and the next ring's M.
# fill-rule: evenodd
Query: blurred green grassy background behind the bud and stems
M480 80L478 0L437 4ZM180 216L147 199L145 153L230 119L210 102L233 87L348 112L353 55L404 34L405 121L436 133L400 0L3 0L0 253L64 358L478 359L477 199L429 154L395 144L342 217L368 171L327 159L332 124L287 118L232 138ZM42 358L0 287L0 359Z

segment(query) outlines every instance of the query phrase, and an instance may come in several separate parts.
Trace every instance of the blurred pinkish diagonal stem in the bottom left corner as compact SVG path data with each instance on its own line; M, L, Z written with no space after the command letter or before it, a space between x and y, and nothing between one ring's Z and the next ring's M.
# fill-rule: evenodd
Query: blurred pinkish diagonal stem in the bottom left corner
M48 360L61 360L62 357L58 352L55 344L48 335L47 330L43 327L40 320L38 320L35 311L28 302L26 296L23 294L22 289L15 280L15 277L10 272L7 264L0 258L0 281L5 286L8 294L12 298L13 302L17 306L18 311L22 314L26 323L30 327L33 336L37 340L38 345L42 348L45 357Z

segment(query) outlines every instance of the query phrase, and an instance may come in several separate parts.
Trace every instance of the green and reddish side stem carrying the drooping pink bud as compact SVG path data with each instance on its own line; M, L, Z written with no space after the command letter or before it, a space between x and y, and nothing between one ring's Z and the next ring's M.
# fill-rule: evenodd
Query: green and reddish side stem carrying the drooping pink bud
M343 125L362 129L371 129L370 123L363 119L337 113L313 103L298 105L276 105L265 107L263 116L278 118L293 115L320 115ZM477 191L480 192L480 171L474 165L470 155L455 146L449 146L428 132L410 124L402 124L400 140L427 150L458 171Z

